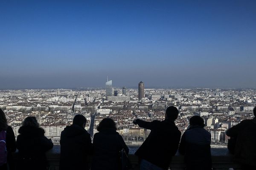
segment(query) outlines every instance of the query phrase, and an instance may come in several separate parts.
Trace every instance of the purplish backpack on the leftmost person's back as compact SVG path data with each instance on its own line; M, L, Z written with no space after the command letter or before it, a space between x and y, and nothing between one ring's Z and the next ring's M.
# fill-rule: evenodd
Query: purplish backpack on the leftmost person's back
M7 163L6 131L0 131L0 166Z

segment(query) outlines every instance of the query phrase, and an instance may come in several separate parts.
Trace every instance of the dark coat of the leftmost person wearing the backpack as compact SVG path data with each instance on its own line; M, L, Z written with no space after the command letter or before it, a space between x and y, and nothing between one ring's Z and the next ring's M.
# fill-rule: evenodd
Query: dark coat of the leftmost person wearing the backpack
M12 158L12 152L16 151L16 141L15 135L11 126L6 129L6 150L7 150L7 163L9 165L9 170L14 170L14 161ZM7 165L4 164L0 166L0 170L7 170Z

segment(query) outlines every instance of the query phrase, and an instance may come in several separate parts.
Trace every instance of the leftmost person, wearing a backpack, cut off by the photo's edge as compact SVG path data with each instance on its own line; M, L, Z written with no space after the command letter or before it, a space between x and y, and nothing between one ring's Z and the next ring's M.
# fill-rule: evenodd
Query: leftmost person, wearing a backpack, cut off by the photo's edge
M7 125L7 119L2 109L0 109L0 170L14 170L12 152L16 150L15 135L12 127Z

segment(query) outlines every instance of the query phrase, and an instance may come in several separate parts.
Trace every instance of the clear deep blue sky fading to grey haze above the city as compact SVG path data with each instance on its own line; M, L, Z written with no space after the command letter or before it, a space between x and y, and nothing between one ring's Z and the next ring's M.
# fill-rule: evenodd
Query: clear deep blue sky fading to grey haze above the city
M1 0L0 89L256 88L255 0Z

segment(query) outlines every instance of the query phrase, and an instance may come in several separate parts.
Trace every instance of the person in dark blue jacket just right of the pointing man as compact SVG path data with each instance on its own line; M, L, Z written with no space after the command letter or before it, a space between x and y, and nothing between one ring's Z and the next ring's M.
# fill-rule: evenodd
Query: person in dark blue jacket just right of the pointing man
M179 152L185 155L186 170L212 170L211 133L204 129L204 119L193 116L183 133Z

